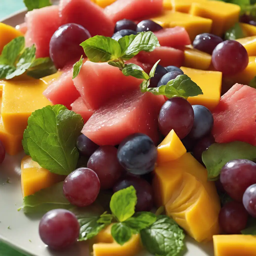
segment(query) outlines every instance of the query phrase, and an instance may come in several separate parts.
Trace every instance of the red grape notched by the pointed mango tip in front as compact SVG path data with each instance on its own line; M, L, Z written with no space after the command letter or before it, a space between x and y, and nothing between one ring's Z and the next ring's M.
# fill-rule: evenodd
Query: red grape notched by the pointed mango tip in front
M194 110L184 98L175 97L167 100L162 106L159 116L159 129L166 136L172 129L180 139L185 138L194 122Z

